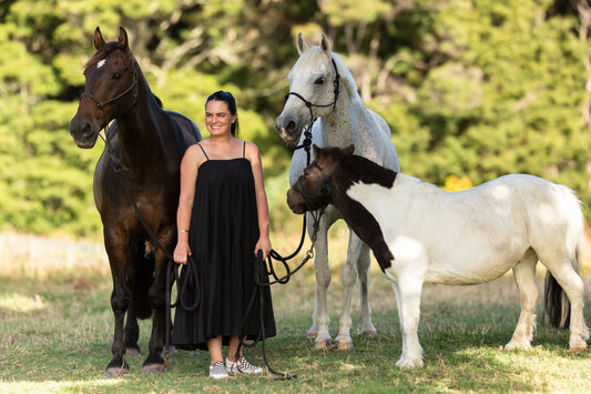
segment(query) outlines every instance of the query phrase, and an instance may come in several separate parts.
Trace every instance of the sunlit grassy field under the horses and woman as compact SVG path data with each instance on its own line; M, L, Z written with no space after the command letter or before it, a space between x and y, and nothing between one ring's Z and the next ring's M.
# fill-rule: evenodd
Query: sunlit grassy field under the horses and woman
M342 238L342 234L336 234ZM291 241L289 241L291 242ZM289 247L289 242L285 247ZM294 241L295 244L295 241ZM335 252L340 261L345 245ZM264 373L226 381L207 377L206 352L171 354L169 373L141 374L143 356L129 358L132 373L103 377L111 358L111 280L104 264L69 267L0 262L0 392L3 393L469 393L591 391L590 352L567 352L568 333L549 327L538 307L532 348L502 352L519 314L511 275L478 286L425 286L419 337L425 367L399 370L400 330L389 282L373 267L370 287L378 339L359 335L355 348L314 351L306 339L315 302L312 263L272 290L278 335L266 343L269 365L297 378ZM540 272L541 270L539 270ZM585 317L591 316L591 283L585 277ZM541 287L542 281L539 281ZM339 267L333 272L329 309L332 334L340 313ZM141 323L140 346L147 347L150 324ZM263 364L261 346L246 351Z

